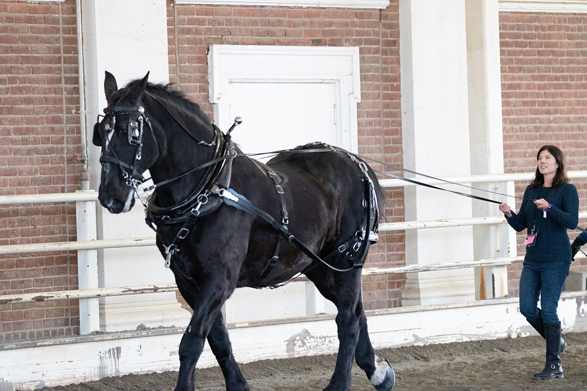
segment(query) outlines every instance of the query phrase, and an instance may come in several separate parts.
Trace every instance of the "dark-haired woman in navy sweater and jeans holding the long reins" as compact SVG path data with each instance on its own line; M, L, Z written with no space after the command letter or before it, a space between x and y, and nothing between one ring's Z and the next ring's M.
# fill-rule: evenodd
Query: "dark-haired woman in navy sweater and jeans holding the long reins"
M566 176L561 149L544 145L537 159L536 175L524 192L518 214L506 203L500 204L500 210L512 228L518 232L528 229L519 278L519 310L546 339L546 365L534 375L544 380L564 377L560 353L566 344L556 308L571 265L566 230L575 229L579 222L579 196Z

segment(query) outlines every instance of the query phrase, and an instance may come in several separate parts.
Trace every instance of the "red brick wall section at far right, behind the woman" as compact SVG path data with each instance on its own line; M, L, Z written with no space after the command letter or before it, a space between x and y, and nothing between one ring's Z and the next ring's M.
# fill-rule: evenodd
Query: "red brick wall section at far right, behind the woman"
M536 154L545 144L562 149L569 171L585 169L587 15L501 13L500 39L505 172L535 172ZM587 210L587 182L572 183L579 190L579 210ZM527 185L519 183L516 194ZM587 227L587 220L579 226ZM569 233L572 239L579 234ZM518 254L524 254L522 236ZM520 273L521 264L510 267L511 295L518 295Z

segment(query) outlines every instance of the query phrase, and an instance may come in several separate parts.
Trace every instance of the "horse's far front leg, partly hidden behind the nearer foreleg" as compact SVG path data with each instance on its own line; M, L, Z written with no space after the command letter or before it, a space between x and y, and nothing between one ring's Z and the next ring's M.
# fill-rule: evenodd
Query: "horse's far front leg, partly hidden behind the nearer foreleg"
M249 391L247 380L242 376L241 370L232 355L232 345L228 338L228 331L224 324L222 313L218 314L210 332L208 333L208 344L216 357L227 391Z

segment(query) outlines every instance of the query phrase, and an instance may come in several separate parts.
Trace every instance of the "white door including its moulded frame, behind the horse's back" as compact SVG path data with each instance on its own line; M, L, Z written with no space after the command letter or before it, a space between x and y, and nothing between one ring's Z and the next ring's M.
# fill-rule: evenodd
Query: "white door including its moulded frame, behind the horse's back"
M227 131L235 117L242 117L232 138L243 152L313 141L356 152L357 47L212 45L208 66L214 121ZM311 282L275 290L237 289L224 307L227 322L323 312L336 313L336 308Z

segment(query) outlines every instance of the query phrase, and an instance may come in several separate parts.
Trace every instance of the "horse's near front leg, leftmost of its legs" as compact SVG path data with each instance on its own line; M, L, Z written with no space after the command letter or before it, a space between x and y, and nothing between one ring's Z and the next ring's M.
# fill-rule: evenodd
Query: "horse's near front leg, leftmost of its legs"
M181 338L179 356L180 371L175 391L194 391L194 370L204 349L204 341L212 325L221 313L221 306L230 295L225 281L214 281L214 276L206 276L205 283L198 284L194 314Z

